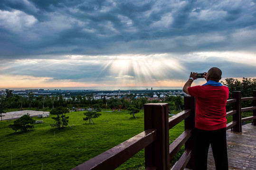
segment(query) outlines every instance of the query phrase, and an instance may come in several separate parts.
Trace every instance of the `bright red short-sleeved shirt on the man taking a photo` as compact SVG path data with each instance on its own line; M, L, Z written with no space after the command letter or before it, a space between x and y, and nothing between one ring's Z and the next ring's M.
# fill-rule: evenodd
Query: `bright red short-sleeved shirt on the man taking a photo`
M227 127L228 87L197 85L189 87L188 91L196 97L196 128L217 130Z

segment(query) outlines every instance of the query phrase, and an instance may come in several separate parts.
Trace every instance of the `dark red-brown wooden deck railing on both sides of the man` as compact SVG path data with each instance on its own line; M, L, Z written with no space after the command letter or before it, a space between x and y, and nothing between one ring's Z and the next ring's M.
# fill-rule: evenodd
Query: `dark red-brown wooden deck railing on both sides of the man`
M252 107L241 108L242 101L253 101ZM241 92L233 92L233 103L227 116L233 115L233 121L227 124L227 129L233 127L235 132L242 131L242 122L253 120L256 126L256 91L253 97L241 98ZM185 152L175 163L172 170L182 170L185 167L194 169L195 153L193 130L195 128L195 97L184 97L184 111L169 118L167 103L149 103L144 105L144 129L142 133L114 146L112 149L78 165L72 170L114 170L134 154L145 148L145 170L170 170L170 161L185 144ZM253 110L253 116L242 118L241 112ZM184 132L169 145L169 130L184 120Z

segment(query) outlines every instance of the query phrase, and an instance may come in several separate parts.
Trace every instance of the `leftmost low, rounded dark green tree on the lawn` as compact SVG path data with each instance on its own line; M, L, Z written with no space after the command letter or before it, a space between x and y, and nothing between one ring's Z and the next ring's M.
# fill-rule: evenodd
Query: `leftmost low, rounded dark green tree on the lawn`
M13 123L13 125L9 125L9 128L12 128L13 130L15 130L15 132L17 130L21 130L21 131L26 131L28 128L33 128L34 124L36 120L32 119L29 117L29 115L23 115L21 116L19 119L15 120Z

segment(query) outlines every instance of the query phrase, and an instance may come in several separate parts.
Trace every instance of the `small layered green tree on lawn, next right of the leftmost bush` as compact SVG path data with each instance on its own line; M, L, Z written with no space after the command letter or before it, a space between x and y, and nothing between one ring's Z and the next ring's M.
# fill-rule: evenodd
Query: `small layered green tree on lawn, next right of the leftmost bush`
M50 114L57 115L57 117L52 117L52 119L57 121L52 126L58 127L58 129L62 129L62 128L64 128L64 126L67 126L68 125L68 120L67 119L69 117L66 117L66 115L64 115L64 114L68 113L68 112L69 112L69 110L67 108L64 108L64 107L61 107L61 106L52 109L50 111Z

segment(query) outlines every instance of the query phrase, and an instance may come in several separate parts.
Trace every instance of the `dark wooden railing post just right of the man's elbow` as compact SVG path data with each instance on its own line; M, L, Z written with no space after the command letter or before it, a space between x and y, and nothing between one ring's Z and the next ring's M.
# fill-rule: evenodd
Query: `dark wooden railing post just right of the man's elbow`
M233 127L234 132L242 132L241 123L241 92L232 92L233 99L237 99L237 102L233 103L233 110L237 110L237 113L233 115L233 121L237 121L237 124Z

